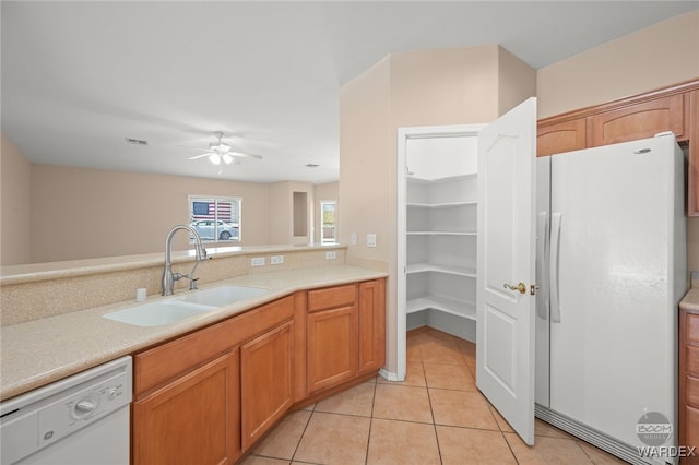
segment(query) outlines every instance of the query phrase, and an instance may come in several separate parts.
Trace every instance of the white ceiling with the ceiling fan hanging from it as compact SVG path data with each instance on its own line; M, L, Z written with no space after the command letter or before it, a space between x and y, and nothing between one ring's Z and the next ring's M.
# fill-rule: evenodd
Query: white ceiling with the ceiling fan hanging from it
M697 8L3 0L1 130L33 163L331 182L339 178L340 88L388 53L500 44L540 69ZM223 168L189 160L216 131L264 158Z

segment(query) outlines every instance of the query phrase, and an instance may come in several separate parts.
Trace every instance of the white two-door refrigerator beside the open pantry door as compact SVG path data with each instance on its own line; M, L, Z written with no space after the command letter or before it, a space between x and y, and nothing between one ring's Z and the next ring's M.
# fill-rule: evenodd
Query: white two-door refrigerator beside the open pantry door
M536 416L631 463L674 462L684 179L672 135L537 159Z

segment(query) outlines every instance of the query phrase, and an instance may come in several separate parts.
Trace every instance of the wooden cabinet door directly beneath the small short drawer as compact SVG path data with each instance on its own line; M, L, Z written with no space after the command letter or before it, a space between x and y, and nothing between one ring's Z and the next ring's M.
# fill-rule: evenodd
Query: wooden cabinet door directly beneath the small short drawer
M307 315L308 392L348 380L357 372L356 306Z

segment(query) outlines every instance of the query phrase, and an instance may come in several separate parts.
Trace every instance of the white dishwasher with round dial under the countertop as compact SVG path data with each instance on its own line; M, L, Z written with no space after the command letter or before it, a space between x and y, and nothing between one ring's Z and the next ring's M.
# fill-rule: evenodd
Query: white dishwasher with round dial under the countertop
M0 463L129 463L131 357L126 356L0 404Z

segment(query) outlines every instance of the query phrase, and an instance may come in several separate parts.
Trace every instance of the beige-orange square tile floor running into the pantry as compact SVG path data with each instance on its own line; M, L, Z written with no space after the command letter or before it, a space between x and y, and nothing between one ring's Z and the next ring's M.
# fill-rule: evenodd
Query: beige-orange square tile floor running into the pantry
M528 446L474 379L474 344L413 331L404 382L378 377L289 414L242 464L625 463L538 419Z

